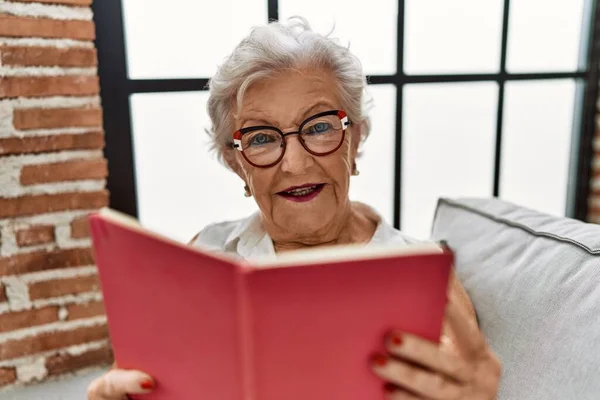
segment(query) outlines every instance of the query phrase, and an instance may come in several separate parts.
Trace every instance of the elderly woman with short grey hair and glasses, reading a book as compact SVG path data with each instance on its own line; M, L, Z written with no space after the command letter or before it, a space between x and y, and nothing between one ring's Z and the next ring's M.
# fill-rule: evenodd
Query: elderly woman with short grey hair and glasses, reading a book
M306 21L252 30L211 79L208 111L215 149L260 212L210 225L192 244L248 258L336 244L415 242L348 198L359 147L369 135L366 88L359 60ZM439 345L394 332L386 339L387 354L372 357L373 373L390 398L495 398L500 363L454 276L449 291ZM144 372L115 366L90 385L88 398L120 400L152 387Z

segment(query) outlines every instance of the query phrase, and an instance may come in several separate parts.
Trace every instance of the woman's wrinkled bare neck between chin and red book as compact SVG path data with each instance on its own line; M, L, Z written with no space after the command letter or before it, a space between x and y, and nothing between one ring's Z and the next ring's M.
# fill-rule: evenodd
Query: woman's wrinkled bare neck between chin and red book
M277 238L271 236L276 253L319 246L368 243L379 224L379 216L370 207L350 203L334 223L310 237Z

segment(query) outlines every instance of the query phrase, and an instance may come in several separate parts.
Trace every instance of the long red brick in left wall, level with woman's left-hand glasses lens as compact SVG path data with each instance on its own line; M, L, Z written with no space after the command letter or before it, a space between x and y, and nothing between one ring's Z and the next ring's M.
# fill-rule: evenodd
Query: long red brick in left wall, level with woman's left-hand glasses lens
M103 149L103 132L57 134L0 139L0 155L47 153L60 150Z

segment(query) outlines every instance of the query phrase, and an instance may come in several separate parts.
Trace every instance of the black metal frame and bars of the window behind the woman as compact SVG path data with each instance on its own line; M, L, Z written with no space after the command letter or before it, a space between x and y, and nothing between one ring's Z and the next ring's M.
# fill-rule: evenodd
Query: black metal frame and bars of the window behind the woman
M268 2L268 20L279 19L278 0ZM494 166L494 197L500 192L500 171L502 151L502 124L504 118L504 96L507 82L523 80L574 79L583 81L577 85L574 114L574 132L579 132L578 156L573 168L575 177L570 184L574 194L566 210L567 216L585 221L588 216L588 198L594 158L593 140L596 131L596 103L598 101L599 61L600 61L600 10L598 0L588 0L589 20L582 29L587 29L587 37L582 35L581 60L585 68L576 72L509 73L506 70L510 0L504 0L502 21L502 43L500 70L493 74L436 74L410 75L404 73L404 25L405 0L398 1L398 49L397 70L394 75L373 75L367 79L370 84L394 84L396 95L396 144L394 172L394 220L396 228L401 227L402 200L402 119L404 86L408 84L457 83L457 82L496 82L499 86L498 111L496 121L496 149ZM111 207L138 216L135 179L134 149L130 96L137 93L169 93L206 90L208 78L199 79L130 79L128 77L125 28L122 0L102 0L92 4L96 23L96 48L98 51L98 75L101 85L104 131L106 138L105 156L109 163L107 189L111 193ZM585 22L589 23L586 26ZM580 67L581 67L580 65ZM578 119L577 116L581 115ZM573 162L573 160L571 160Z

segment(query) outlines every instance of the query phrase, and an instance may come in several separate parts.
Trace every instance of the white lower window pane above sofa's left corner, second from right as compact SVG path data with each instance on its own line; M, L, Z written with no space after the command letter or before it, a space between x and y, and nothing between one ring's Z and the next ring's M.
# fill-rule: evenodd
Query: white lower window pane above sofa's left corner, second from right
M439 197L491 196L495 83L408 85L402 134L402 230L430 235Z

